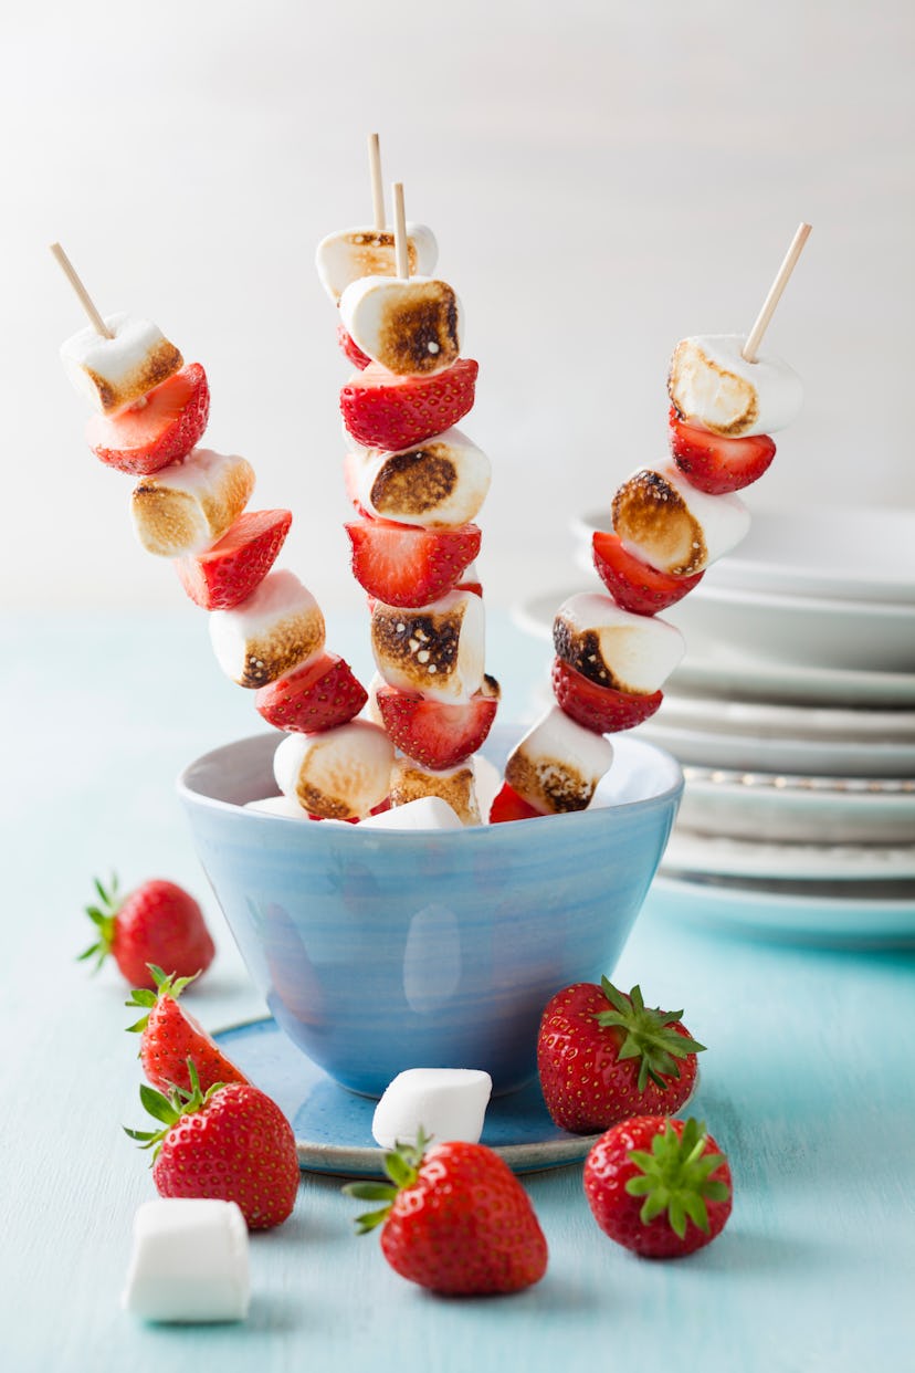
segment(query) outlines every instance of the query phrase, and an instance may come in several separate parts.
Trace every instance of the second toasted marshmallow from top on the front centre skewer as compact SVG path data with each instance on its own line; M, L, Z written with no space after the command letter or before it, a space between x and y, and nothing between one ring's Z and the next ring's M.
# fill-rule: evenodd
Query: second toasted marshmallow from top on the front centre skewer
M486 453L458 428L396 453L359 448L344 460L347 494L355 505L427 529L468 524L486 500L491 476Z

